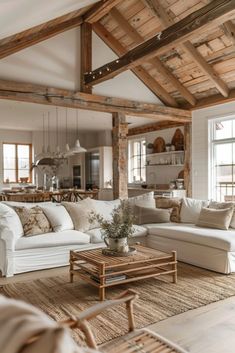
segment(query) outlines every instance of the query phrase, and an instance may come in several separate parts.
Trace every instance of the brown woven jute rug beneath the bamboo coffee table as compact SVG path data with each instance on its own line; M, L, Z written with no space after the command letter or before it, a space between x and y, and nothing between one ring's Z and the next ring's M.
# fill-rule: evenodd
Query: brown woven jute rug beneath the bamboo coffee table
M112 298L127 288L136 290L140 298L135 303L134 313L137 327L141 328L235 295L235 275L222 275L182 263L178 264L178 270L177 284L171 283L167 276L152 278L112 287L107 290L107 297ZM98 302L96 288L78 277L74 283L69 283L68 275L8 284L2 291L41 308L56 321L67 318L64 309L76 315ZM91 327L99 344L125 334L125 307L107 310L91 321ZM80 331L74 331L73 335L81 344L84 338Z

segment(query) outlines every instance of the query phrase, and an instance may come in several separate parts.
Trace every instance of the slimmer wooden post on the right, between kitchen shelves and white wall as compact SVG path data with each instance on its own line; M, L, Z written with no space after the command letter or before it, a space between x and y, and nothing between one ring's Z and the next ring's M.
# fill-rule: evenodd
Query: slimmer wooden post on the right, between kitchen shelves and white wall
M192 197L192 124L184 125L184 185L188 197Z

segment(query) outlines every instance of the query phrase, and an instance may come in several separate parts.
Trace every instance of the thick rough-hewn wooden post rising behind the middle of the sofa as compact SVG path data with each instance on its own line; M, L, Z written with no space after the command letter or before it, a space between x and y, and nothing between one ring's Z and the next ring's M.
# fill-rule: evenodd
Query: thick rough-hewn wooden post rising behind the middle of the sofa
M128 126L124 114L113 113L113 196L128 197Z

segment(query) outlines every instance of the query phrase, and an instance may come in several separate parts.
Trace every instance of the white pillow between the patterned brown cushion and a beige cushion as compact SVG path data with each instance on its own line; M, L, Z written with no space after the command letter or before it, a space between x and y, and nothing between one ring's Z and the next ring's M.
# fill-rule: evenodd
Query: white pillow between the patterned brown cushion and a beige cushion
M54 232L61 232L63 230L74 229L73 221L63 205L41 206L43 212L51 223Z

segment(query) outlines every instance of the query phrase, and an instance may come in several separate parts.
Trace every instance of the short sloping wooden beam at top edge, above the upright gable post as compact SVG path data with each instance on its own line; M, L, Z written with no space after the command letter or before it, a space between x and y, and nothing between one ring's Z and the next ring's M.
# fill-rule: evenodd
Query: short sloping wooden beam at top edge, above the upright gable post
M117 6L123 0L102 0L93 5L90 10L84 15L84 21L89 23L98 22L102 17Z

